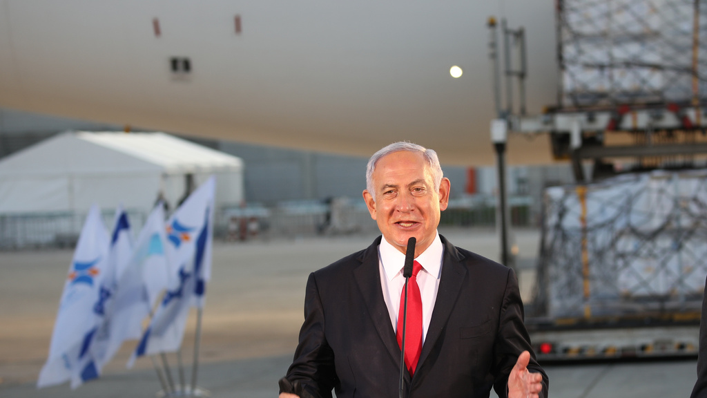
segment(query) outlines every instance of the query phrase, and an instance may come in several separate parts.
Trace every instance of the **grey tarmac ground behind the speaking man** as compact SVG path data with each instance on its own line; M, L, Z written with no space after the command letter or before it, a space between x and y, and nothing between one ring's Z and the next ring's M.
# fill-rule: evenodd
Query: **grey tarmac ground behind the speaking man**
M483 256L499 256L493 230L440 228L440 234ZM521 295L528 300L539 233L522 229L513 237ZM197 386L211 397L276 397L277 380L286 373L297 343L308 274L365 248L374 238L352 234L214 242ZM140 358L133 369L125 368L134 341L124 344L98 380L76 390L68 383L35 387L72 255L58 249L0 252L0 398L156 397L161 386L150 359ZM194 312L182 349L187 385L192 382L195 319ZM167 359L179 385L178 358L170 354ZM561 398L689 397L696 380L696 358L544 368L550 396Z

